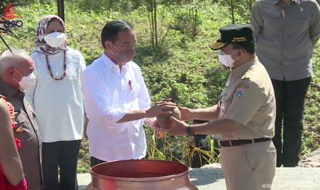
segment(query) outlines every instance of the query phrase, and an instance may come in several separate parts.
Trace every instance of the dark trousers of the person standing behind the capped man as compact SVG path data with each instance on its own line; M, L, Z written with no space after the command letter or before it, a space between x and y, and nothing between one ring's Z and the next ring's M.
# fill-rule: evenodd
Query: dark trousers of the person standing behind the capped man
M272 80L272 82L277 103L273 138L277 149L277 167L281 165L296 167L302 142L304 101L311 77L297 81Z

